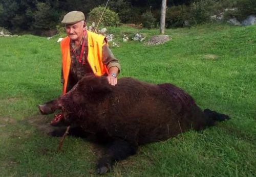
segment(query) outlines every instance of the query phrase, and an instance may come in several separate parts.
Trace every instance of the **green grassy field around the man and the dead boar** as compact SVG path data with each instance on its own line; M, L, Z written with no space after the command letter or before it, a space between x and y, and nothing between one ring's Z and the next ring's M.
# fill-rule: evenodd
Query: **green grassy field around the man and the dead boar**
M104 176L255 176L256 26L166 30L172 40L157 46L120 41L158 30L109 31L120 45L112 48L120 77L173 83L231 119L140 146ZM53 115L39 115L37 105L61 93L58 37L0 37L0 176L97 176L94 144L66 137L57 152L60 138L43 131Z

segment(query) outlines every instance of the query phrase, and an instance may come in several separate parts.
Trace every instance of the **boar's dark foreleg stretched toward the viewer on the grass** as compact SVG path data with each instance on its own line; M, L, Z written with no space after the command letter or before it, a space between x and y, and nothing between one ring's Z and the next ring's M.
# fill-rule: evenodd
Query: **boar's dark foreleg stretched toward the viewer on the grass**
M110 171L115 162L136 154L136 151L137 145L121 139L113 140L107 145L105 154L98 161L97 173L103 174Z

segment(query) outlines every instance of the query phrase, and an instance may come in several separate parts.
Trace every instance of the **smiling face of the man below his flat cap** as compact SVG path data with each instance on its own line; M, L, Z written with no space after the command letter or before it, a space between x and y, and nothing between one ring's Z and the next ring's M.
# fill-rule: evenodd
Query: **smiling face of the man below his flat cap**
M79 21L74 24L67 24L65 29L67 35L70 37L70 39L75 41L80 41L83 36L83 21Z

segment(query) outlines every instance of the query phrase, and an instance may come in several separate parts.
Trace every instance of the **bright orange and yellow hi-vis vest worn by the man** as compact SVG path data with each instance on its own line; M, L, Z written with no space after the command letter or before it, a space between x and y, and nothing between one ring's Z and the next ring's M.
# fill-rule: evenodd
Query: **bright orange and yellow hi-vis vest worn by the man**
M88 40L88 63L95 75L103 75L108 73L106 65L102 63L102 46L104 36L87 31ZM67 36L60 42L60 49L62 53L62 72L63 72L63 88L62 94L67 91L67 84L69 79L71 57L70 57L70 38Z

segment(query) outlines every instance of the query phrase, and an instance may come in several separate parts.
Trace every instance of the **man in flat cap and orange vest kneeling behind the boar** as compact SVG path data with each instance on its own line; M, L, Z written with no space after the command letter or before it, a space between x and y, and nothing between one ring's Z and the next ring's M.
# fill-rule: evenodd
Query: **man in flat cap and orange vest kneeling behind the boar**
M111 85L117 84L119 61L114 57L104 36L87 31L84 14L79 11L67 13L61 23L67 37L60 42L62 53L62 94L67 93L88 74L106 75Z

